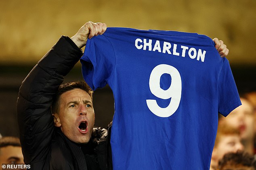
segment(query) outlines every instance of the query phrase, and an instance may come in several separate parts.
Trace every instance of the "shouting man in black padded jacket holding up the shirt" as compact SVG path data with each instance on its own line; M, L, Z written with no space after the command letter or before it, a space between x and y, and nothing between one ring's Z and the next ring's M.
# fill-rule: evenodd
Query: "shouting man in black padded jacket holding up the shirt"
M73 83L60 86L63 76L82 57L80 49L87 39L101 35L105 30L103 23L88 22L71 39L61 37L23 81L17 114L24 162L31 165L30 169L111 168L108 142L102 143L109 138L106 139L106 133L101 135L100 129L96 130L95 133L99 131L97 134L91 130L94 123L91 90L77 85L81 83L75 83L72 88ZM222 41L214 39L214 42L220 55L228 54Z

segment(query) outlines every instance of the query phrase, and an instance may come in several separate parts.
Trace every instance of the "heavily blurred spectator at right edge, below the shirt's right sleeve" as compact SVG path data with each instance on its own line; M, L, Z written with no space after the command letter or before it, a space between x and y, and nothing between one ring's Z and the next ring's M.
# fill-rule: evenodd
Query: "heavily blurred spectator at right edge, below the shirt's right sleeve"
M239 129L245 152L254 154L254 114L252 104L246 98L240 98L242 105L233 110L226 118L220 118L219 124Z

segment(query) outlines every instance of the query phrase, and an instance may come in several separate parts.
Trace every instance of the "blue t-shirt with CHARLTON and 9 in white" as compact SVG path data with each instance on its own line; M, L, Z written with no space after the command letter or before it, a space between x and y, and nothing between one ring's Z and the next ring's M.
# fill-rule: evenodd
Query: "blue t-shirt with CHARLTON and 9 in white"
M107 28L88 39L82 74L115 100L114 170L206 170L218 112L241 105L226 58L197 33ZM108 102L108 101L106 101Z

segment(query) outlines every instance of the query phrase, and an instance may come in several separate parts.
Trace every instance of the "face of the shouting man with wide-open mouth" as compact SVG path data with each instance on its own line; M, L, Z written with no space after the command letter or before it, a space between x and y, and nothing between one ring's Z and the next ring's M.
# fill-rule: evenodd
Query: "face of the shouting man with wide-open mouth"
M94 126L94 109L89 94L76 88L61 94L55 126L71 141L88 143Z

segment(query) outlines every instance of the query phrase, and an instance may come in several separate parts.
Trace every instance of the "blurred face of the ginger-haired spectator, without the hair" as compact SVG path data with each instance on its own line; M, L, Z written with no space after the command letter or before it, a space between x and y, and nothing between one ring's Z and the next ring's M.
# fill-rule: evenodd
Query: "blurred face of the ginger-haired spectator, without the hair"
M237 134L221 135L220 141L216 146L216 156L217 160L223 158L223 156L230 152L237 152L243 150L243 145L241 143L241 137Z

